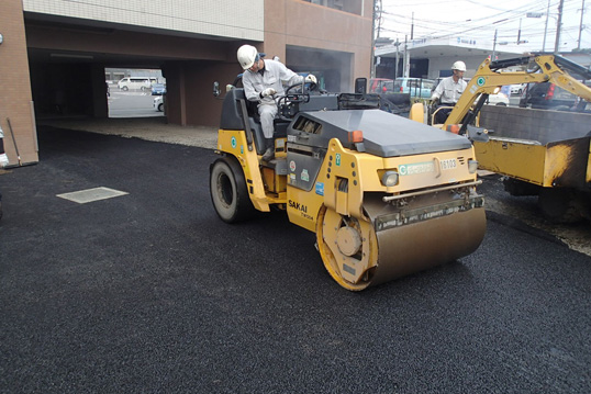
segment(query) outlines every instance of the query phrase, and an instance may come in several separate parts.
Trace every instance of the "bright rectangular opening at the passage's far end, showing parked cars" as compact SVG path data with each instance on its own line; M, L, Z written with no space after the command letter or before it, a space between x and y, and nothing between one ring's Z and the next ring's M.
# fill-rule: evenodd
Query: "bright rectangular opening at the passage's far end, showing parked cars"
M159 69L105 68L109 117L152 117L166 113L166 79Z

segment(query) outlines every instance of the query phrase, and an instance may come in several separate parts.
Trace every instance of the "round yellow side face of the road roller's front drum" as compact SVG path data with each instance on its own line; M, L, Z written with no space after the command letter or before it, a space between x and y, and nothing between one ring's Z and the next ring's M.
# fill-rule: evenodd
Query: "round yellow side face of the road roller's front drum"
M378 243L370 222L343 216L324 206L319 215L316 240L324 267L338 284L360 291L371 283Z

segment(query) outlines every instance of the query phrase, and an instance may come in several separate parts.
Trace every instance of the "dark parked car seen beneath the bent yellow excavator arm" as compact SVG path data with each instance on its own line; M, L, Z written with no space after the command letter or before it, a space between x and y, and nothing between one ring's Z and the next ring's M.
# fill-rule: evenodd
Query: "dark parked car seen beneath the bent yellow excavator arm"
M521 108L537 110L586 110L586 103L579 104L577 94L572 94L550 82L527 83L520 99ZM578 109L577 109L578 108Z

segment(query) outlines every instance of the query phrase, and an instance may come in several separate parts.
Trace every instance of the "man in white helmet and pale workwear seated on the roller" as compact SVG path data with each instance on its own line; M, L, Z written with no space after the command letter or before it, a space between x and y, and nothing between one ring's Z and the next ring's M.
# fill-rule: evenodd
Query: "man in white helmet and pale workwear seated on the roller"
M275 127L272 123L275 115L277 115L275 99L285 95L283 83L287 86L302 82L316 83L316 77L310 74L304 78L280 61L263 59L257 48L252 45L241 46L237 57L244 69L242 83L246 100L258 103L260 125L266 140L263 160L269 161L275 157Z

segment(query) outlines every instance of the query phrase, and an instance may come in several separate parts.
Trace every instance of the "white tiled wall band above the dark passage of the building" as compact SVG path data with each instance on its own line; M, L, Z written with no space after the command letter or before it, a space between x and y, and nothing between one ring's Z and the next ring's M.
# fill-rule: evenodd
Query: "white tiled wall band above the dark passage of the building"
M26 12L263 41L265 0L23 0Z

